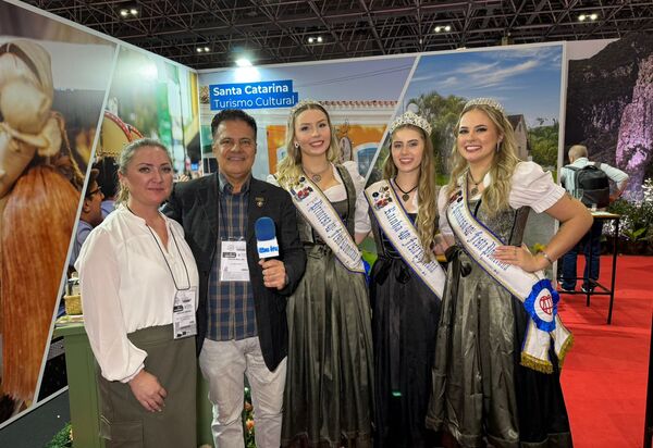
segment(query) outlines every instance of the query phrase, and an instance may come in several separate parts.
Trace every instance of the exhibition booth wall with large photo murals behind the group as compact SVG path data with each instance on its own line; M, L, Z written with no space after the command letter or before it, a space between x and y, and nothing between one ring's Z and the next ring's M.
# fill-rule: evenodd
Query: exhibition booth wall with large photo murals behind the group
M493 97L510 115L522 160L555 176L565 149L587 145L590 159L631 176L627 198L636 207L652 175L652 79L646 35L197 73L0 1L0 169L9 173L0 177L0 399L10 403L0 407L0 427L66 387L53 360L61 350L49 341L58 347L52 334L79 198L93 163L115 159L126 142L157 138L176 172L205 175L215 170L212 116L246 109L259 126L254 175L264 179L286 152L289 109L313 99L331 115L342 161L371 181L387 155L389 123L411 110L433 126L438 183L445 184L463 105ZM29 102L42 98L47 110ZM553 220L530 219L538 225L529 226L529 246L547 241ZM630 231L640 224L624 223Z

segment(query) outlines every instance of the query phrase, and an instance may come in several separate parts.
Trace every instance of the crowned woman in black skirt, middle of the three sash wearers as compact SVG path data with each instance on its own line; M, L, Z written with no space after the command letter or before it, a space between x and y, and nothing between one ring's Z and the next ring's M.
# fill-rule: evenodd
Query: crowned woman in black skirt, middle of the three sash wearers
M430 139L431 125L406 112L390 126L391 153L383 166L383 181L367 188L377 219L372 229L379 252L370 282L374 337L374 387L377 412L374 446L423 448L433 446L424 426L435 335L440 319L441 285L419 275L417 263L435 261L438 231L435 164ZM390 187L390 188L389 188ZM390 190L392 189L392 190ZM383 221L384 209L397 228ZM416 245L402 252L398 235L415 231ZM440 270L442 271L442 270Z

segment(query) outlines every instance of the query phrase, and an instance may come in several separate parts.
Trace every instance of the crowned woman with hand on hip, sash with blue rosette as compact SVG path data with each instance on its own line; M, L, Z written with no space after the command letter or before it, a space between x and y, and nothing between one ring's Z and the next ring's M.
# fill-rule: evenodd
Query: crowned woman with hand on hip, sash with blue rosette
M517 159L513 127L495 100L469 101L455 130L452 177L438 204L440 231L456 246L447 251L427 426L464 447L570 447L559 368L571 338L540 271L592 217L550 173ZM538 254L521 246L529 209L560 222ZM534 279L533 293L508 293L521 288L515 278ZM540 281L547 286L538 291ZM529 311L528 303L541 308Z

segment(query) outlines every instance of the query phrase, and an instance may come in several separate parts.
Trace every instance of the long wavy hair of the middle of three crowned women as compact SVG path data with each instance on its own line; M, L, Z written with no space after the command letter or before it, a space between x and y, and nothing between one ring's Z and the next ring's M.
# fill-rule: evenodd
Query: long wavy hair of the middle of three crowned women
M417 235L419 236L419 241L424 249L424 256L428 260L433 260L435 258L432 247L435 240L436 233L436 223L438 223L438 195L435 188L435 157L433 151L433 144L431 138L427 135L424 129L418 126L412 125L404 125L399 126L392 133L391 136L391 150L383 163L383 178L391 179L395 178L397 175L397 166L395 165L392 159L392 140L394 139L395 134L399 129L415 129L419 132L419 135L422 138L424 144L424 150L422 152L422 160L419 165L419 181L417 187L418 195L418 208L417 208L417 219L416 219L416 227Z

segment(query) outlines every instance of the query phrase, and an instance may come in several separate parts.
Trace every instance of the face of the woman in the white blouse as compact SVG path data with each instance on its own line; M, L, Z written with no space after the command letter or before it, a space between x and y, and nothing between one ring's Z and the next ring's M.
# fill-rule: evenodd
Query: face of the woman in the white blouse
M172 190L172 162L168 152L156 146L135 150L120 182L130 191L130 206L158 208Z

